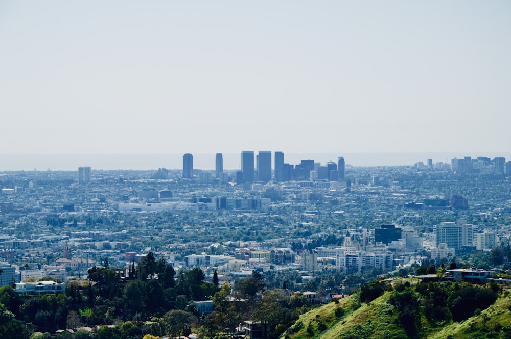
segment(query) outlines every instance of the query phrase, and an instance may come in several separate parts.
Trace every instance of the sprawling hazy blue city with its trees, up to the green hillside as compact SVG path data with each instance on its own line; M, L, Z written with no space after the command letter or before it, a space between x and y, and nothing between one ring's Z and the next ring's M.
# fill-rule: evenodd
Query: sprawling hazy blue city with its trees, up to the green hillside
M142 321L133 335L291 337L294 317L378 277L511 281L504 157L355 167L242 151L241 170L224 169L222 153L212 163L194 168L186 153L182 169L0 173L0 285L11 291L0 302L54 336L131 337L113 325ZM263 291L287 307L267 329ZM27 299L64 293L63 308Z

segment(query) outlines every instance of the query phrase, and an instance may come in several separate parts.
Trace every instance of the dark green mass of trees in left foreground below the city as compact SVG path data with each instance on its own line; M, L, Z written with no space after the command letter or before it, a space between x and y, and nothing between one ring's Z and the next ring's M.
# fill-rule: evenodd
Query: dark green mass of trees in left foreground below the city
M311 305L301 294L280 286L267 289L263 274L253 272L228 284L218 285L218 275L206 282L199 268L174 271L165 259L149 253L141 259L128 279L120 279L103 267L88 271L89 281L72 281L65 294L21 297L11 286L0 289L0 337L28 338L26 324L43 333L81 326L100 326L91 333L79 331L62 337L142 339L177 336L192 329L204 337L235 333L244 320L260 321L267 338L276 337ZM284 288L284 289L283 289ZM213 300L214 311L201 315L194 301ZM115 328L105 325L115 324ZM16 335L9 335L16 333Z

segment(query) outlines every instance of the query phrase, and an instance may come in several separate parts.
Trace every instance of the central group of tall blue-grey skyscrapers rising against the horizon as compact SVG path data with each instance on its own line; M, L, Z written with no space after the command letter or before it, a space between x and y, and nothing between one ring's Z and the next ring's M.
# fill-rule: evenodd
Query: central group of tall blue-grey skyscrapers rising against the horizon
M290 180L329 180L343 181L345 173L344 158L339 157L337 163L329 162L326 166L315 163L314 160L302 160L300 164L291 165L284 162L283 152L274 152L273 176L271 151L259 151L257 155L254 151L241 152L241 171L236 172L236 182L268 182ZM255 160L255 161L254 161ZM223 173L222 153L217 153L215 157L215 176L221 182L226 182L227 177ZM183 178L193 177L193 155L186 153L183 155ZM207 179L206 179L207 180Z

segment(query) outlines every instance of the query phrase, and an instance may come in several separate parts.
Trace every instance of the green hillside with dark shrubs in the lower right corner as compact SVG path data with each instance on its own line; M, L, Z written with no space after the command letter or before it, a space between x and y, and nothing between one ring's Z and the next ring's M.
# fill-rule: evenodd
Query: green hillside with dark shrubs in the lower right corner
M509 291L466 283L385 288L371 301L361 302L359 291L313 309L281 338L511 338Z

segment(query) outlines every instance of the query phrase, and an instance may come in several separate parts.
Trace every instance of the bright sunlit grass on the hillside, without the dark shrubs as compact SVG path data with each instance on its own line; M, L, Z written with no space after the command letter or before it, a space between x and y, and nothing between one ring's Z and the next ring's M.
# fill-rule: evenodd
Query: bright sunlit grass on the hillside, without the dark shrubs
M339 300L338 304L329 303L313 309L300 316L296 324L281 338L407 338L397 322L397 312L394 312L393 307L387 303L389 295L385 293L369 304L362 303L358 308L357 296L352 295ZM510 306L511 293L507 291L480 315L461 323L451 322L446 326L431 328L423 320L423 326L428 326L424 329L423 337L427 339L447 339L449 335L456 339L511 337ZM342 317L335 316L337 307L344 310Z

